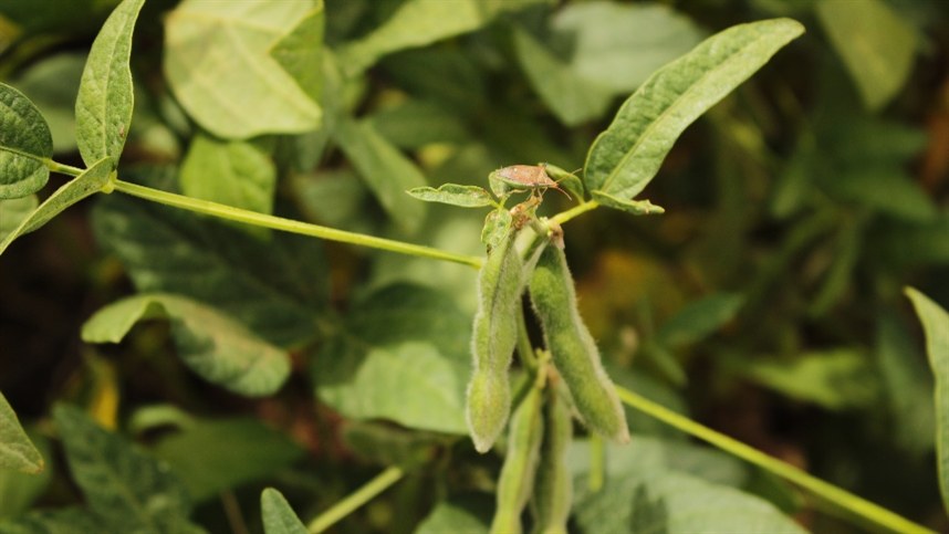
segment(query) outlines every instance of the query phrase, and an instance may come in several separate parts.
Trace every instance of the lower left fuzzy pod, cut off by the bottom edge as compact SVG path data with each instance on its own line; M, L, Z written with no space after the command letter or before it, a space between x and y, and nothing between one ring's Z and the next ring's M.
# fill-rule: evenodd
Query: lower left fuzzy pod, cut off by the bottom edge
M491 521L491 534L521 533L521 513L534 486L534 473L543 438L543 392L534 384L530 384L528 388L511 416L508 453L498 479L498 507Z

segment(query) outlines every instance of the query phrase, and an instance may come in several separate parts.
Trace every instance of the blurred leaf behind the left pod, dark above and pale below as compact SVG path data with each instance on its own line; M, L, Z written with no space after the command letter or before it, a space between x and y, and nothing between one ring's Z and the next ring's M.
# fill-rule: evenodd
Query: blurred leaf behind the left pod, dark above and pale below
M348 418L467 433L470 323L436 291L383 289L353 310L315 358L316 394Z

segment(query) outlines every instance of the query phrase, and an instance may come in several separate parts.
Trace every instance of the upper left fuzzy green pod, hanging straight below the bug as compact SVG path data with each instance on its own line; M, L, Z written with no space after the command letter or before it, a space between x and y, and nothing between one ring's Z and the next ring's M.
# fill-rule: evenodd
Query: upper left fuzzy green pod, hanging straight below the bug
M478 275L478 312L471 337L474 369L468 384L467 418L478 452L498 439L511 410L508 367L518 341L518 313L523 291L521 258L510 232Z

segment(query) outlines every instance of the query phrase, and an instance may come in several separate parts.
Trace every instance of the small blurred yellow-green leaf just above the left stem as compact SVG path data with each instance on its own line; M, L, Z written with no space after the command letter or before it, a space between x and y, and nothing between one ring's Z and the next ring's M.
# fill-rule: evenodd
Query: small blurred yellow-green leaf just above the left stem
M189 197L259 213L273 212L277 168L263 150L250 143L196 135L181 163L180 181L181 192Z

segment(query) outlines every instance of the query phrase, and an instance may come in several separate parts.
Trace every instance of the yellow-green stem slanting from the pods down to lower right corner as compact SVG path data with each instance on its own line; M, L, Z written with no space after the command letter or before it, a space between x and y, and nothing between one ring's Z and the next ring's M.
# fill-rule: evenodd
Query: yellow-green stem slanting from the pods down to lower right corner
M888 531L898 533L932 533L932 531L925 526L916 524L890 512L889 510L854 495L846 490L824 482L816 477L812 477L794 465L770 457L758 449L742 443L741 441L729 438L728 436L717 432L706 426L699 425L698 422L657 405L656 402L634 394L628 389L617 387L616 391L619 394L619 398L630 407L654 417L670 427L677 428L686 433L707 441L730 454L764 469L765 471L781 477L825 502L854 513Z

